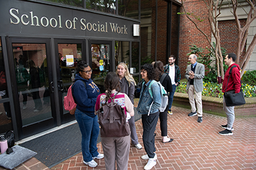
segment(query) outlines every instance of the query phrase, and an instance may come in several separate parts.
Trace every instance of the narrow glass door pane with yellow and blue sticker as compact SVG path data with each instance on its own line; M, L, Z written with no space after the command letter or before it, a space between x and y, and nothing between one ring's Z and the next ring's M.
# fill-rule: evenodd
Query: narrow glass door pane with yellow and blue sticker
M92 44L92 79L93 82L99 87L100 92L104 90L104 80L110 71L110 55L108 44Z

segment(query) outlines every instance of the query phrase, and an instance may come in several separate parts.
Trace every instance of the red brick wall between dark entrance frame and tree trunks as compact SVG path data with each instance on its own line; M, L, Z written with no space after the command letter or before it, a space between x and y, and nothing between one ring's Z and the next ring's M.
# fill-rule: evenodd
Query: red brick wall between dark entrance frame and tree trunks
M203 1L187 0L184 3L186 11L193 13L194 15L204 19L203 22L196 22L198 27L211 39L211 29L207 20L207 8ZM184 12L183 8L180 8L181 12ZM193 17L192 17L193 18ZM180 39L179 39L179 67L182 78L188 66L187 53L190 52L189 46L196 45L198 47L205 48L209 46L205 36L196 29L195 25L186 17L186 15L180 16Z

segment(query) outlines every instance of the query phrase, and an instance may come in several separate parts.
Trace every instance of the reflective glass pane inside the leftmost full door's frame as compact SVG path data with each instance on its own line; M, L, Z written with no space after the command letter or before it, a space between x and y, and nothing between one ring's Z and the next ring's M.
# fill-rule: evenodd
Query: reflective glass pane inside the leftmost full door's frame
M22 125L52 118L45 44L13 43Z

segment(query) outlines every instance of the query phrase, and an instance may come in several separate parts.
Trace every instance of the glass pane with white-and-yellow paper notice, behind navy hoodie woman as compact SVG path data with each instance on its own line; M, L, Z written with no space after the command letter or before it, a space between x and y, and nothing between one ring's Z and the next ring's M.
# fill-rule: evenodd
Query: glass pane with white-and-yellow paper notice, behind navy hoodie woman
M82 60L82 44L58 44L58 57L60 61L60 77L63 82L63 90L61 89L62 101L67 96L68 88L75 79L74 73L77 62ZM63 114L69 111L63 107Z

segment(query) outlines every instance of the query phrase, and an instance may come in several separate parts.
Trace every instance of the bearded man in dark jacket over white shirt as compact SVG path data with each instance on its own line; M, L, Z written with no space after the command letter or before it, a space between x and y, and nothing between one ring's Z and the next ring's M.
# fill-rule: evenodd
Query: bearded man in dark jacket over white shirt
M164 73L167 73L171 80L172 80L172 92L169 94L169 115L172 115L172 102L173 102L173 95L175 93L176 87L180 83L180 68L175 63L176 57L174 55L170 55L168 64L164 66Z

